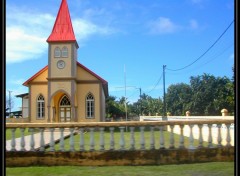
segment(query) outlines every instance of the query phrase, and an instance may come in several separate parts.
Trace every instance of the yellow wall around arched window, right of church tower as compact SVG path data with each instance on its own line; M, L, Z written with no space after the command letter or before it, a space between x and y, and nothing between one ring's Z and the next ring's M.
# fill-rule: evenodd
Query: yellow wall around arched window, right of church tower
M78 101L78 121L79 122L99 122L100 121L100 86L96 84L78 84L77 101ZM86 96L92 93L94 96L95 116L92 119L86 118Z

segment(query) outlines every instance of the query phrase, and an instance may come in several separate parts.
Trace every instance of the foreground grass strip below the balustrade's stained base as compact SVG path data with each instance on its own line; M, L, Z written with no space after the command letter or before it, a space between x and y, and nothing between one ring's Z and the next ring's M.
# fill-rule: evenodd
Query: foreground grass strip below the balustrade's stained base
M57 166L6 168L7 176L233 176L234 162L161 166Z

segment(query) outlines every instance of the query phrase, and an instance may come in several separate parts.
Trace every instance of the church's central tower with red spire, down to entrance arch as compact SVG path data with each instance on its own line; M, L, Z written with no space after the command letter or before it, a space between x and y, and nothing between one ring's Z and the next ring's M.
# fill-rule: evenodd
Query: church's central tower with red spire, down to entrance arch
M62 0L48 42L48 121L59 122L61 97L70 100L70 121L76 121L76 75L78 43L67 0ZM69 116L69 115L68 115Z

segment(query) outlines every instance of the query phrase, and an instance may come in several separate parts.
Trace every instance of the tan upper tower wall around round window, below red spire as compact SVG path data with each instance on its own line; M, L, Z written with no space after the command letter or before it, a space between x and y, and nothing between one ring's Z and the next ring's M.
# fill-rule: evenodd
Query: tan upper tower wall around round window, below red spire
M56 47L59 47L62 49L63 47L68 48L68 57L54 57L54 49ZM51 44L51 77L71 77L71 56L72 56L72 50L71 50L71 43L68 44L61 44L61 43L56 43L56 44ZM59 69L57 67L57 62L59 60L63 60L65 62L65 67L63 69Z

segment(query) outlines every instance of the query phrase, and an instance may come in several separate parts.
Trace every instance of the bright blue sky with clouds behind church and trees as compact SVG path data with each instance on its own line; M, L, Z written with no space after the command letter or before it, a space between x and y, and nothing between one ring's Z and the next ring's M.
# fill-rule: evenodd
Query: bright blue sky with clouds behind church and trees
M23 82L48 63L46 42L61 0L6 0L6 96L14 109L28 92ZM233 0L68 0L79 44L78 61L108 81L109 94L134 102L139 89L163 96L163 65L179 69L201 56L234 19ZM203 73L232 77L234 25L204 57L181 71L166 70L171 84ZM125 67L125 72L124 72ZM126 78L126 79L125 79Z

